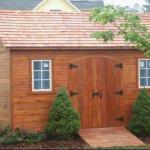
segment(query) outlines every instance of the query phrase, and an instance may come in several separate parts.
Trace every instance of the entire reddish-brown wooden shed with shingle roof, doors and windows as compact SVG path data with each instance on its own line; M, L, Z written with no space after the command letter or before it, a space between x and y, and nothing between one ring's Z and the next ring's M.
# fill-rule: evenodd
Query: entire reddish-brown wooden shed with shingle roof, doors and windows
M66 86L82 128L126 126L140 88L150 88L150 59L122 38L90 36L110 28L88 13L0 11L0 123L43 128Z

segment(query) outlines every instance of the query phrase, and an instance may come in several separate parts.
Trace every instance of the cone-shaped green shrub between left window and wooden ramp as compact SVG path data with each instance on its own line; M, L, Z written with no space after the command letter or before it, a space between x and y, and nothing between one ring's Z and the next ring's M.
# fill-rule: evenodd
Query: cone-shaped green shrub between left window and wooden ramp
M80 128L79 114L72 107L67 90L60 88L49 113L45 133L48 138L70 139Z

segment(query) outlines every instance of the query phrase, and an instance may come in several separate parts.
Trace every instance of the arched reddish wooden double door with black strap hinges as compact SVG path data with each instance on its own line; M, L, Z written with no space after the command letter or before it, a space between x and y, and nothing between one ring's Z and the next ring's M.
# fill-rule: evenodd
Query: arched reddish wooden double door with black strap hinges
M84 58L69 64L70 97L80 113L82 128L116 126L123 121L119 116L123 94L121 71L119 61L105 57Z

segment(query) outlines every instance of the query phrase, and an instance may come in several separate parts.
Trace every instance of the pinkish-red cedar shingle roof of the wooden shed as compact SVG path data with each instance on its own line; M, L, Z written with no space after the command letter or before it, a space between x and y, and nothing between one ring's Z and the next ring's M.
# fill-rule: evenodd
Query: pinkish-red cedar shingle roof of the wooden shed
M150 26L150 15L143 16ZM0 40L8 48L130 48L122 38L107 44L91 38L96 30L115 28L89 21L88 13L0 11Z

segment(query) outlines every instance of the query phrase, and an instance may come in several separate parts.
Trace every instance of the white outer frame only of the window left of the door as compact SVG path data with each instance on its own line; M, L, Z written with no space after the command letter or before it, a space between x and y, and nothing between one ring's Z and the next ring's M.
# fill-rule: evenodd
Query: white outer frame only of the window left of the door
M50 87L49 89L34 89L34 62L49 62L49 82ZM42 59L42 60L32 60L32 91L33 92L50 92L52 91L52 60Z

